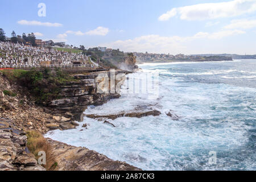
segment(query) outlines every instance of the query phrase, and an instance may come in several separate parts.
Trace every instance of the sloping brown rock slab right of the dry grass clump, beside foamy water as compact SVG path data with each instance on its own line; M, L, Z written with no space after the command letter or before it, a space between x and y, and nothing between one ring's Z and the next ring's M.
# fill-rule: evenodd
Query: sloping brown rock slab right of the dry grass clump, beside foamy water
M53 155L57 156L57 171L141 171L127 163L109 159L84 147L74 147L47 138Z

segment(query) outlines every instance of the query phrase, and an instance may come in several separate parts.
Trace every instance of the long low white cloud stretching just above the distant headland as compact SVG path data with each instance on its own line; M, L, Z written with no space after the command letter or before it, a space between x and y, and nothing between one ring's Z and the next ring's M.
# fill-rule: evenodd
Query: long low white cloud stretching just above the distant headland
M152 53L168 53L168 52L184 52L187 51L185 44L193 40L199 39L221 39L228 36L234 36L239 34L245 34L240 30L226 30L219 32L198 32L193 36L160 36L160 35L145 35L129 40L117 40L112 43L102 44L101 46L107 46L112 48L120 48L124 51L140 51L140 52L152 52Z

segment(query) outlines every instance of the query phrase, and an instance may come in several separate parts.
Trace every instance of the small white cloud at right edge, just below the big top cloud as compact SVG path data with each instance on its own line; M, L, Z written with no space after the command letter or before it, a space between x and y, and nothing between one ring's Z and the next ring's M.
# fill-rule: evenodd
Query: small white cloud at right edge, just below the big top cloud
M235 28L241 28L241 29L249 29L256 27L256 19L248 20L248 19L237 19L232 20L230 24L225 26L226 29L235 29Z

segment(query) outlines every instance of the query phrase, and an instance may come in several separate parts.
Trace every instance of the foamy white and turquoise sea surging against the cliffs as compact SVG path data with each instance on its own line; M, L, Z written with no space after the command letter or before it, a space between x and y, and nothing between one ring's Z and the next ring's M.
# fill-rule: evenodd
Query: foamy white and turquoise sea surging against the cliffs
M85 114L157 109L158 117L118 118L116 127L90 118L87 130L51 131L46 137L83 146L144 170L255 170L256 60L143 64L159 73L159 97L124 94ZM179 115L173 121L165 113ZM215 151L217 163L209 163Z

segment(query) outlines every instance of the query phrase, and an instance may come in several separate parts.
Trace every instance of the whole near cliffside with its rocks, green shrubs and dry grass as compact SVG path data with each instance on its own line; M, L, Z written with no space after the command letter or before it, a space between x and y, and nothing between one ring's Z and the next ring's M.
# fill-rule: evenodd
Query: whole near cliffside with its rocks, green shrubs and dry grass
M98 93L105 81L98 74L66 75L47 69L0 72L0 170L139 170L42 135L75 128L88 105L101 105L120 96ZM119 78L115 85L123 81L124 77ZM46 165L37 163L39 151L46 151Z

